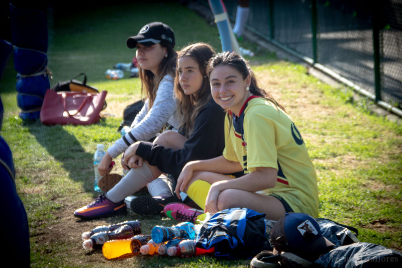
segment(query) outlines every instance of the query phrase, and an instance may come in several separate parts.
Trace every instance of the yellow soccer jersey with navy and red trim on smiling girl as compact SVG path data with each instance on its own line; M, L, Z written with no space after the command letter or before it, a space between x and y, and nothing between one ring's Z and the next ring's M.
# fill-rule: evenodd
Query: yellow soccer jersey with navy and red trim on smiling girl
M240 162L244 173L256 167L278 170L276 186L266 194L282 197L294 212L318 217L318 187L314 165L302 136L289 116L270 101L252 96L237 117L225 119L223 156Z

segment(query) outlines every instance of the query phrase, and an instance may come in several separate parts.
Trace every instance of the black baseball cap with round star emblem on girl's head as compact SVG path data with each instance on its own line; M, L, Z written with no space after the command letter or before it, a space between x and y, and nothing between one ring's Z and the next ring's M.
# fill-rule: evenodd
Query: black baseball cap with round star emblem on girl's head
M151 22L141 28L136 36L127 39L128 48L135 48L137 43L144 46L152 46L154 44L169 44L174 47L174 33L170 27L161 22Z

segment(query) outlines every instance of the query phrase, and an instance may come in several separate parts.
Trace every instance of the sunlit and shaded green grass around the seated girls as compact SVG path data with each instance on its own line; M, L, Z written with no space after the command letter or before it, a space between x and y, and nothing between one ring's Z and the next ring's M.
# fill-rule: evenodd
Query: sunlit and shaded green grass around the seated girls
M96 125L47 127L19 119L16 72L12 60L7 65L0 81L5 107L1 134L13 151L17 190L28 213L33 267L249 266L247 260L205 256L109 261L100 251L81 247L81 233L100 224L138 219L143 233L158 224L175 224L131 212L93 221L72 216L96 196L91 160L96 144L107 148L119 138L116 130L124 107L140 98L138 78L110 81L104 72L132 59L134 50L126 48L125 40L151 21L172 27L177 50L197 41L220 48L216 26L174 3L115 5L55 18L48 52L54 83L85 72L88 84L108 91L103 113L116 116L104 114ZM254 44L241 46L256 51L250 60L260 84L285 106L306 141L319 178L320 217L358 228L361 241L402 249L402 127L370 115L367 102L354 100L348 88L320 82L304 66L257 51Z

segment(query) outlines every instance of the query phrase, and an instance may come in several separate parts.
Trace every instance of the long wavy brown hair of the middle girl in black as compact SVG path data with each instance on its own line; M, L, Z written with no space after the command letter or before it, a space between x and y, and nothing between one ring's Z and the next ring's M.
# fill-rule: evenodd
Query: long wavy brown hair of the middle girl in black
M189 137L194 128L195 117L201 108L204 107L212 98L211 86L207 76L206 67L211 57L215 55L214 49L206 43L195 43L183 48L178 52L177 58L184 56L192 57L199 66L199 71L203 75L203 84L196 94L185 95L179 83L179 74L176 71L174 78L174 93L177 98L177 108L181 114L180 128L185 136Z

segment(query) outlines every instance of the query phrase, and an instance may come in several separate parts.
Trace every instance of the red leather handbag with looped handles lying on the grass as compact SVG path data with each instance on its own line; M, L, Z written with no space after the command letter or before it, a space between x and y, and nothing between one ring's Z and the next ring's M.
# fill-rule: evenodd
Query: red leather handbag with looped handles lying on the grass
M106 94L47 90L40 113L45 125L90 125L99 121Z

